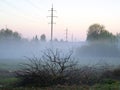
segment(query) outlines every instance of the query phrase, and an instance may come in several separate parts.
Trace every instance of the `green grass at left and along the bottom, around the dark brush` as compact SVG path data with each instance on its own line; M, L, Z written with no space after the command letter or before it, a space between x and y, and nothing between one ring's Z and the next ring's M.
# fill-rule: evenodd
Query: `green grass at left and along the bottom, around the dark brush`
M1 63L0 64L0 90L120 90L120 80L108 80L104 83L96 83L89 85L56 85L50 87L16 87L18 81L12 72L19 68L16 63ZM10 68L10 69L9 69ZM3 70L3 71L2 71Z

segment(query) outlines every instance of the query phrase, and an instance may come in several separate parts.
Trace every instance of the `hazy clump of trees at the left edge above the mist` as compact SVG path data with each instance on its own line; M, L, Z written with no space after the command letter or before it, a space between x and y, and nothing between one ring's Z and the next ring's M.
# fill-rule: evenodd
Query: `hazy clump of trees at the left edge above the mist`
M10 29L1 29L0 30L0 41L16 41L21 40L21 35L18 32L13 32Z

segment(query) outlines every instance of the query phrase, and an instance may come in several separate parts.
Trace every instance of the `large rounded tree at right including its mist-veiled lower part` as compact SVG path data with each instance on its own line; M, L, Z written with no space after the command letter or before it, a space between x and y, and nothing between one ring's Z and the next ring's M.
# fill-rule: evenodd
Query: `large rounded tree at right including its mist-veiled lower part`
M93 24L87 33L87 45L77 49L80 57L120 57L118 35L108 32L103 25Z

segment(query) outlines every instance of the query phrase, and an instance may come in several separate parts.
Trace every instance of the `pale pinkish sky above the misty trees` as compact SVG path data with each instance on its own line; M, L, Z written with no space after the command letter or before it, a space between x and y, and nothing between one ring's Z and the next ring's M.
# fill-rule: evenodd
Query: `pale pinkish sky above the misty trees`
M50 40L50 12L53 4L54 38L84 41L90 25L102 24L113 34L120 32L120 0L0 0L0 29L19 32L25 38L45 34Z

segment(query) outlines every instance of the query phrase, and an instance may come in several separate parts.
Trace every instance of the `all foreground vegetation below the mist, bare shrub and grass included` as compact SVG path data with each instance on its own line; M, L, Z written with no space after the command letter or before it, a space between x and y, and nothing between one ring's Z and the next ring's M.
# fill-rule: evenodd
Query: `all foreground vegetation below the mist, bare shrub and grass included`
M71 62L71 54L61 59L58 51L50 50L44 55L46 63L34 57L28 58L30 62L22 64L20 70L1 69L0 90L120 90L119 66L78 67Z

